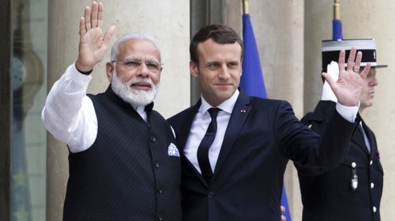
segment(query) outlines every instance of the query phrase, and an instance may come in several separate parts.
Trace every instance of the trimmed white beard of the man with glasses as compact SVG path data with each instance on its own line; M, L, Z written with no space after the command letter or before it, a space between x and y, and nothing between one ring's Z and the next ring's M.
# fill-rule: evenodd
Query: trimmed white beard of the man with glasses
M150 84L151 90L136 90L130 87L130 85L137 82ZM111 88L123 101L129 103L133 108L136 108L137 106L146 106L154 101L159 91L159 82L155 85L150 78L130 79L129 81L124 82L118 78L117 72L114 70Z

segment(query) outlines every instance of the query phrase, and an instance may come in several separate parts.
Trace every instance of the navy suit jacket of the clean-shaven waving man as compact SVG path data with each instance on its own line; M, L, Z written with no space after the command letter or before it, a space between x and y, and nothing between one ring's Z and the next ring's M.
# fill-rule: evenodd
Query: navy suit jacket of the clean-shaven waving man
M289 103L240 90L207 184L183 154L199 107L200 102L168 119L182 153L184 221L279 220L288 160L313 168L337 166L357 125L335 112L320 137L295 117Z

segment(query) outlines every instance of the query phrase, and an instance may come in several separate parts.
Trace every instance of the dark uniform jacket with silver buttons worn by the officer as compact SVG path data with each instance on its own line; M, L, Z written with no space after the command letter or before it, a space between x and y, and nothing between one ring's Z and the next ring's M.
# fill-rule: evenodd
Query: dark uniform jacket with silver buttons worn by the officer
M323 134L335 106L332 101L320 101L316 110L307 113L302 122ZM370 153L358 128L349 151L334 170L316 170L318 176L311 176L314 174L311 168L295 163L299 171L303 221L380 221L383 168L376 138L363 121L362 125L369 139ZM357 176L355 189L351 184L354 175Z

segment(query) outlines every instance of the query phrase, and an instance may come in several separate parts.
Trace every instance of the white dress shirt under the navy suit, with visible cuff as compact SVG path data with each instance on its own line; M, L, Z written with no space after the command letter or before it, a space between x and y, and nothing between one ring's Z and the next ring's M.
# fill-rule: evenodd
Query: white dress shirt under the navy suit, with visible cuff
M208 151L208 159L210 161L210 166L213 173L215 172L214 169L215 165L217 164L219 152L221 150L222 142L225 137L225 131L228 127L229 119L231 117L233 108L235 107L238 95L239 91L236 90L235 94L233 94L232 97L217 106L217 108L220 108L222 111L218 112L217 132L215 134L214 142L212 143ZM194 121L192 122L191 131L184 148L185 156L195 166L200 174L201 171L199 163L197 161L197 148L199 147L200 142L203 139L207 131L208 125L211 121L211 116L208 112L208 109L210 108L213 107L209 105L207 101L205 101L204 98L201 96L201 105L197 114L195 115ZM339 103L336 104L336 110L339 112L339 114L352 123L355 122L358 108L359 101L357 106L355 107L346 107Z

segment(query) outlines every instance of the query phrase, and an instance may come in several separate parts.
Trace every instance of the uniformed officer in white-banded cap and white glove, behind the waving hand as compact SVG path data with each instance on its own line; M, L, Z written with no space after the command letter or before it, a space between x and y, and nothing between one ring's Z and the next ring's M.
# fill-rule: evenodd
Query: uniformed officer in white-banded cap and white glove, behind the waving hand
M360 113L373 105L374 87L378 84L376 69L387 66L376 63L374 39L326 40L322 41L323 72L337 80L338 64L334 61L342 48L348 57L352 46L363 54L360 68L368 62L372 65L359 98ZM335 110L335 102L336 97L325 81L315 111L307 113L301 121L322 134ZM314 170L295 166L309 174ZM383 168L376 138L363 119L354 132L350 149L341 165L333 170L316 170L315 173L317 176L299 172L303 221L380 221Z

